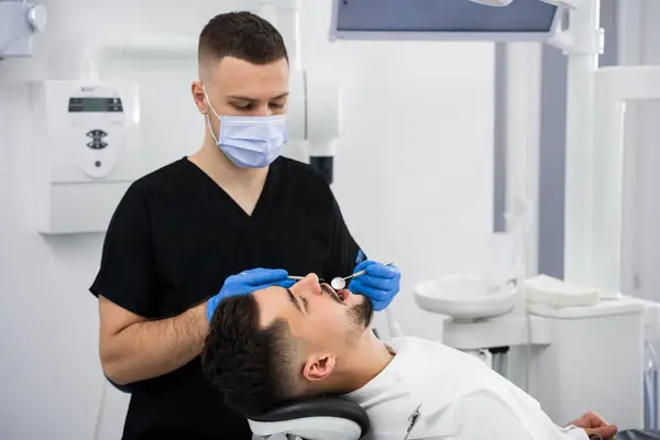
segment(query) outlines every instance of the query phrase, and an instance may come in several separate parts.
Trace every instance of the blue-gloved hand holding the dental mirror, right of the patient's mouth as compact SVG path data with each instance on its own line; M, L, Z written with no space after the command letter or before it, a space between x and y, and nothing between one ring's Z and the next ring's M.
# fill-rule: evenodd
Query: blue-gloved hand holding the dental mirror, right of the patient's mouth
M394 264L386 266L367 260L355 266L353 273L364 270L364 275L351 279L349 290L371 298L374 310L384 310L399 292L402 272Z

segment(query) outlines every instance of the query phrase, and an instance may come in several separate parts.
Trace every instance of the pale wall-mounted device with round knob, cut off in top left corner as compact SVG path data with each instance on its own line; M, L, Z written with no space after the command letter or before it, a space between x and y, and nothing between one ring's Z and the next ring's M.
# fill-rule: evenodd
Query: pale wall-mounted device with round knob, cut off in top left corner
M0 59L32 55L36 32L46 28L46 8L22 0L0 0Z

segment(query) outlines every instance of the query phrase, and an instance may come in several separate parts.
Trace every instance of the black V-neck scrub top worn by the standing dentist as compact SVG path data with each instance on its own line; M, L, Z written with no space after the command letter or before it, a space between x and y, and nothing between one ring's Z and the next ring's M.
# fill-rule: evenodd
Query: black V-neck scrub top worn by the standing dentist
M187 158L136 180L119 204L90 292L150 319L174 317L255 267L348 275L364 260L330 187L279 157L252 216ZM251 439L222 404L199 358L131 385L123 439Z

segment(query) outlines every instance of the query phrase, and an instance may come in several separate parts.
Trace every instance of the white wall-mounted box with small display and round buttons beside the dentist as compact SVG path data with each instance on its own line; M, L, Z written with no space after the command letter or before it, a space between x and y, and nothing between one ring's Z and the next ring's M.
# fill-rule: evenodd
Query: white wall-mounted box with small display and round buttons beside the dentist
M102 232L144 168L136 82L36 82L36 228Z

